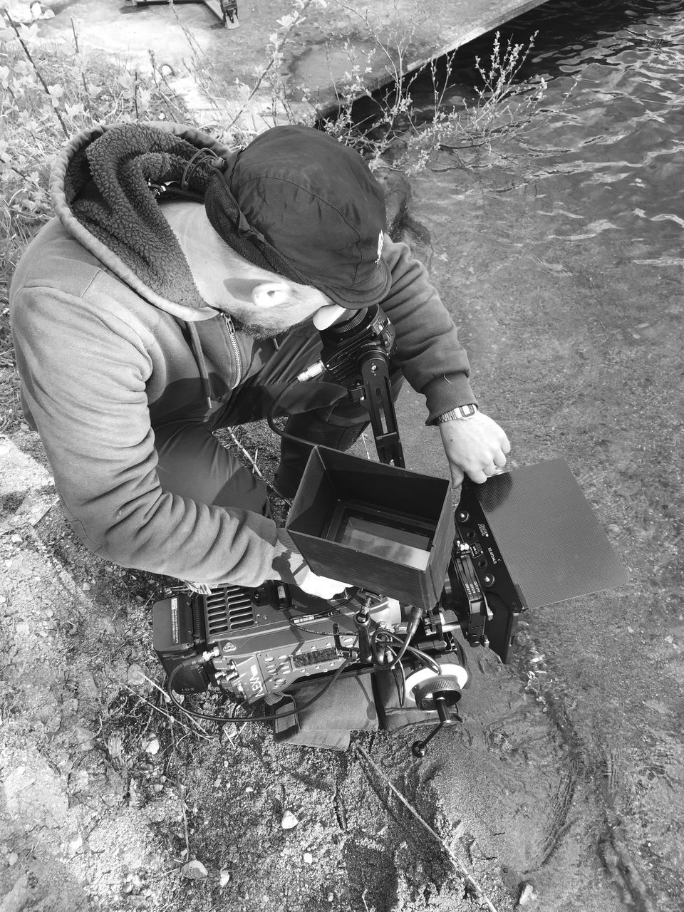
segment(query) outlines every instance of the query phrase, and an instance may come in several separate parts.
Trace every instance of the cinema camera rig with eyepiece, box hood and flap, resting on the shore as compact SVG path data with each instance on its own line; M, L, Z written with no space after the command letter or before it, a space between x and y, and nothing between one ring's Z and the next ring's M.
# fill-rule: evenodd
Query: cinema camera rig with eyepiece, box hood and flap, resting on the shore
M459 718L465 644L506 662L527 608L627 575L563 460L480 485L466 478L454 517L451 483L404 467L387 316L371 307L321 337L321 360L297 379L327 370L362 402L380 461L316 447L285 527L316 574L354 587L329 602L272 582L177 593L154 606L154 647L172 697L213 687L248 707L264 699L267 714L250 718L273 719L276 737L316 700L297 705L297 689L319 682L320 696L340 675L366 672L386 689L393 677L399 707L433 714L436 727L413 744L421 757L454 710Z

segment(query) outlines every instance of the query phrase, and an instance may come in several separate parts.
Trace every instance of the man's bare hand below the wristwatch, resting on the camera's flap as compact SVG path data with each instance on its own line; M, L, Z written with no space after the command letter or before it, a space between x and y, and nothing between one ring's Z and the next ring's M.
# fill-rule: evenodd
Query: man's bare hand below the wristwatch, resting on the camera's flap
M461 484L464 474L482 484L503 469L511 444L496 421L481 411L472 418L444 421L439 427L454 487Z

